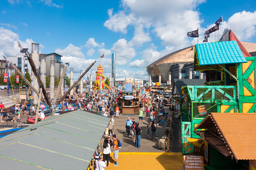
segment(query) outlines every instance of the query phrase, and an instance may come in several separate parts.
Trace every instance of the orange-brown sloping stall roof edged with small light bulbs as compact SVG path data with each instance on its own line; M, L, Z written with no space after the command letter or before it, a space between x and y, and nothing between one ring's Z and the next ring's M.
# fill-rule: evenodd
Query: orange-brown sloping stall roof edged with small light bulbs
M210 113L194 132L226 156L251 160L256 159L255 120L256 113Z

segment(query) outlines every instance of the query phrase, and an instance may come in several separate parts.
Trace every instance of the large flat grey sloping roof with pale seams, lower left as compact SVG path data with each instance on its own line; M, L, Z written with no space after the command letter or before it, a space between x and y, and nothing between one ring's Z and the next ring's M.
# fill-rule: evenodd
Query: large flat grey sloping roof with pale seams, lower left
M2 169L85 169L110 119L76 110L0 138ZM31 131L31 128L35 130Z

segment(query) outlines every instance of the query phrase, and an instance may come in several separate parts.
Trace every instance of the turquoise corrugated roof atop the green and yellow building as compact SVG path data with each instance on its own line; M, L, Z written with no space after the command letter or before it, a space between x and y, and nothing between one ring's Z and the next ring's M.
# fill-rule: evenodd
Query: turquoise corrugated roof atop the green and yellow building
M196 44L199 65L246 63L236 41Z

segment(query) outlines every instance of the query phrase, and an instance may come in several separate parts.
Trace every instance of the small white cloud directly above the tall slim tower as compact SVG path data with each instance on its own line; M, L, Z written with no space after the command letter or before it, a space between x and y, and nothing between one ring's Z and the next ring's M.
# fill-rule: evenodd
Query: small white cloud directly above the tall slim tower
M111 50L116 53L117 65L125 65L136 55L132 44L127 43L125 39L120 39L114 43Z

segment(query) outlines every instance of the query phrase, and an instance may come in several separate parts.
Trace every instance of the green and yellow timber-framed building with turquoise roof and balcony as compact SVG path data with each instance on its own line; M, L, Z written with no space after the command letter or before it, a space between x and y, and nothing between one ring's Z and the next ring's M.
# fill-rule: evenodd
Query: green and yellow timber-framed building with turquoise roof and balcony
M255 68L256 57L244 57L237 41L195 45L194 71L206 73L206 83L205 86L182 88L180 111L184 154L204 147L204 140L193 131L210 112L256 111ZM205 106L207 114L201 115L198 106Z

